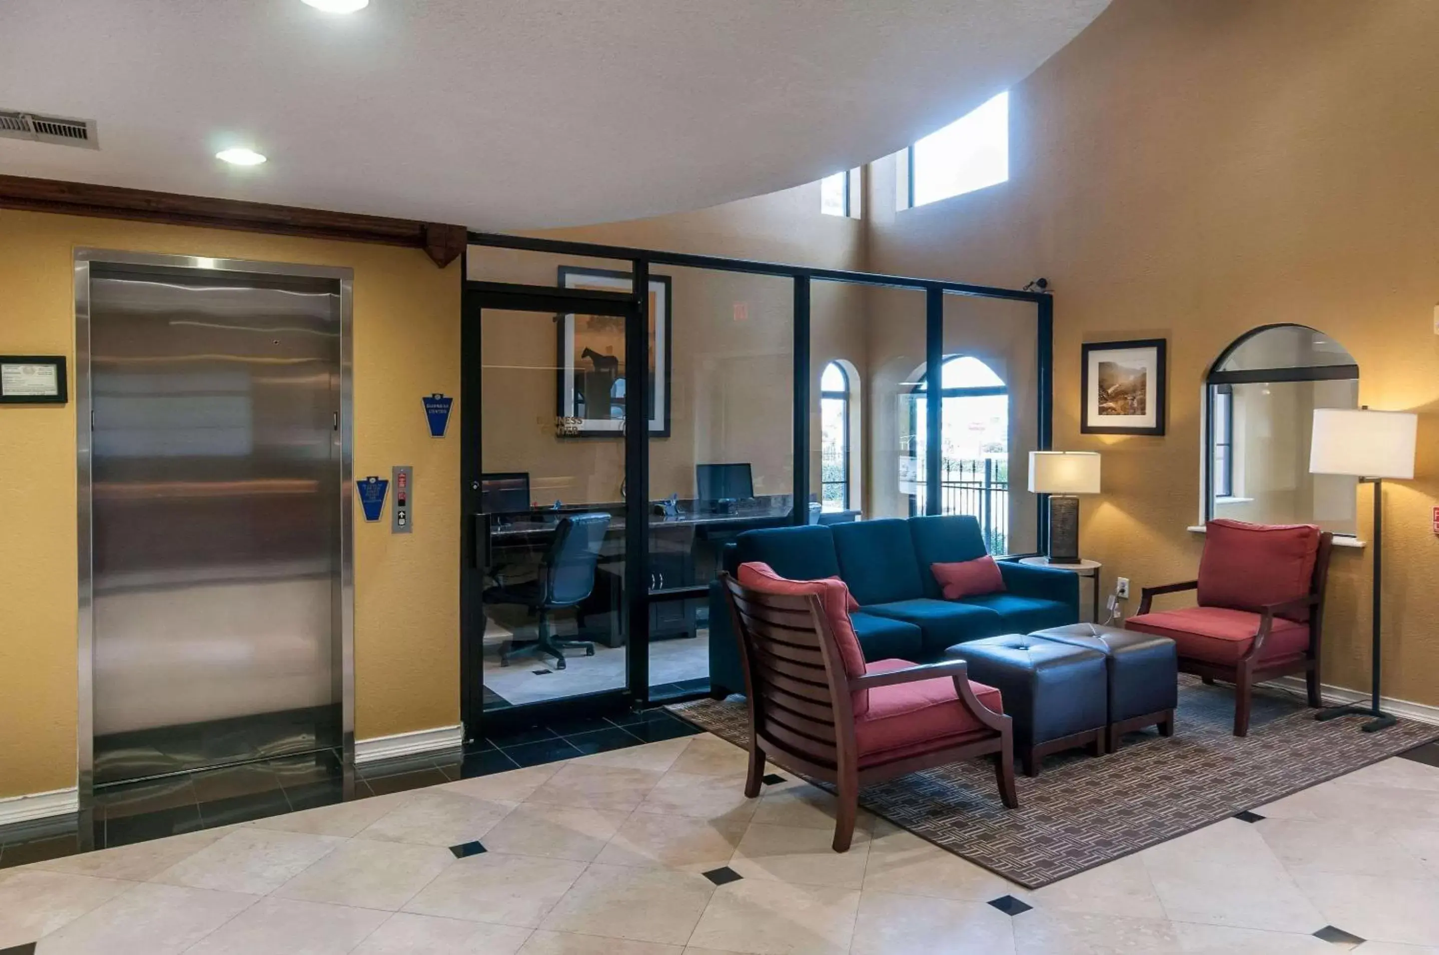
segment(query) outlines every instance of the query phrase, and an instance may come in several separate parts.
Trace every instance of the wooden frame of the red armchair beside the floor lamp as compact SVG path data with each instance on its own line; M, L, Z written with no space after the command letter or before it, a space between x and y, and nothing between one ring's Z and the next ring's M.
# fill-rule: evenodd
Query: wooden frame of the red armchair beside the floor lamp
M1325 531L1320 535L1320 549L1314 557L1314 577L1309 581L1309 593L1304 597L1295 597L1294 600L1256 607L1235 607L1235 610L1248 610L1249 613L1259 614L1259 627L1255 631L1253 643L1249 644L1249 650L1239 657L1236 663L1210 663L1207 660L1186 657L1180 653L1179 669L1181 673L1193 673L1202 677L1204 683L1225 680L1235 685L1236 736L1249 735L1249 712L1255 683L1263 683L1265 680L1272 680L1279 676L1297 676L1302 673L1309 706L1318 708L1324 705L1324 700L1320 696L1320 652L1322 643L1321 636L1324 633L1324 591L1328 584L1330 555L1333 549L1334 535ZM1150 613L1150 607L1156 597L1163 594L1177 594L1186 590L1199 590L1199 581L1187 580L1179 584L1145 587L1140 593L1138 616ZM1275 663L1261 662L1259 656L1263 650L1265 640L1269 637L1269 630L1274 627L1274 618L1285 611L1298 610L1301 607L1309 608L1309 643L1304 650L1304 656L1298 660L1288 659Z

